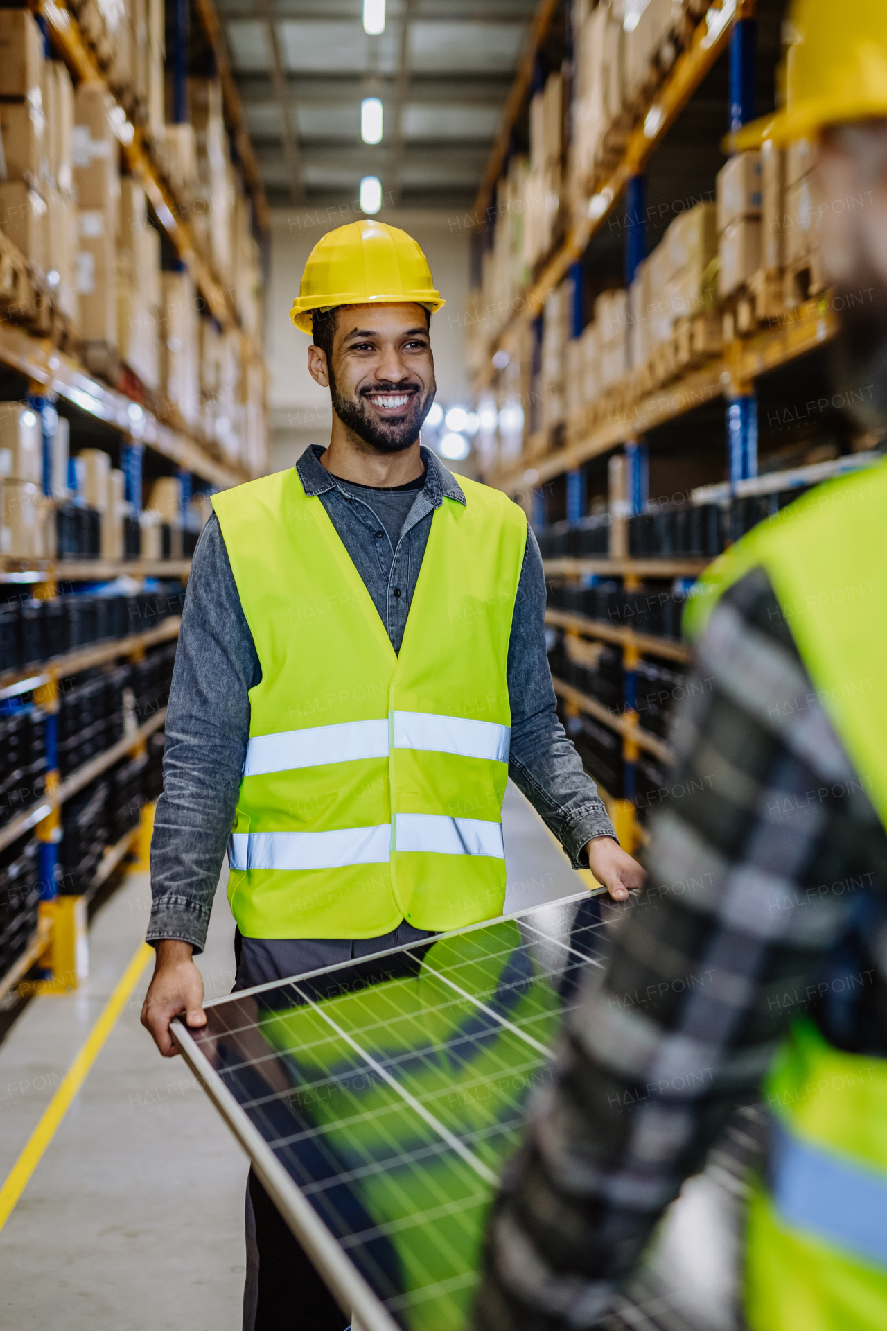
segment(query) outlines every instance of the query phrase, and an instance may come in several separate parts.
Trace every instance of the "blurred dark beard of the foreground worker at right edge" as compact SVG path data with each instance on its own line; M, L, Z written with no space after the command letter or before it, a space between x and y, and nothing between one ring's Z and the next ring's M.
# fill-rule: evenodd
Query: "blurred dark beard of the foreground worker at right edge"
M887 429L887 290L872 277L834 299L840 326L832 343L835 387L866 430Z

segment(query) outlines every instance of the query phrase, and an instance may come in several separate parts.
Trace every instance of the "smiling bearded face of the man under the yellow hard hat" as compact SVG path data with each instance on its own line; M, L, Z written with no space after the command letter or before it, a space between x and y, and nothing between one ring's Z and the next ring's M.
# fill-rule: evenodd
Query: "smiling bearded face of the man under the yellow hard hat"
M379 453L415 443L436 391L420 305L344 306L328 359L332 410L352 435Z

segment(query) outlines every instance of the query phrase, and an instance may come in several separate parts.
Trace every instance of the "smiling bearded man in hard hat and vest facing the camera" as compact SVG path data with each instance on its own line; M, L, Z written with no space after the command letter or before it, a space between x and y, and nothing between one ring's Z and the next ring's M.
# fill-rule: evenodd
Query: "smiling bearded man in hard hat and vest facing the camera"
M419 245L351 222L314 248L291 318L328 387L328 449L218 494L188 586L152 843L142 1021L205 1024L193 961L227 848L245 989L501 913L508 775L616 898L620 849L555 711L524 512L419 443L435 398ZM255 1178L249 1331L342 1331Z

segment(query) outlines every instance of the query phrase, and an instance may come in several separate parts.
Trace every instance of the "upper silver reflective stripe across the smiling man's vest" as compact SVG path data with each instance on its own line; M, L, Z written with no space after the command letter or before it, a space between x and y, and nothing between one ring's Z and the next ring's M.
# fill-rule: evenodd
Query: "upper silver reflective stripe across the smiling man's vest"
M395 712L394 747L435 753L460 753L507 763L511 727L432 712ZM246 748L243 776L289 772L324 763L354 763L388 756L388 721L344 721L305 731L254 735Z

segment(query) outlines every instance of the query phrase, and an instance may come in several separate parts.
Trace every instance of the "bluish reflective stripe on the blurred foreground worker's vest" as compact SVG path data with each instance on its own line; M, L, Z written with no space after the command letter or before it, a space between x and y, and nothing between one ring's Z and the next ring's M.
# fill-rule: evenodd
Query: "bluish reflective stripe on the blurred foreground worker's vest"
M786 1223L887 1267L887 1175L811 1146L778 1121L771 1153L773 1201Z

